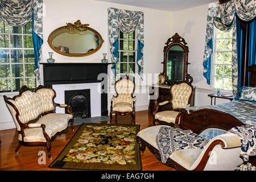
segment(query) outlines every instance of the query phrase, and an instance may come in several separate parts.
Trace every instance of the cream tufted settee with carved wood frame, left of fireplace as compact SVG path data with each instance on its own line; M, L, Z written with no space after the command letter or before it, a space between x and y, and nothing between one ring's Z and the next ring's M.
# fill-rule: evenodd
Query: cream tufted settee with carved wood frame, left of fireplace
M19 144L25 146L47 146L47 154L51 159L51 141L61 133L67 133L68 124L73 128L73 114L69 111L70 106L56 104L55 90L39 85L34 91L23 85L19 95L9 98L3 96L16 128L18 130ZM55 113L56 106L67 107L69 114Z

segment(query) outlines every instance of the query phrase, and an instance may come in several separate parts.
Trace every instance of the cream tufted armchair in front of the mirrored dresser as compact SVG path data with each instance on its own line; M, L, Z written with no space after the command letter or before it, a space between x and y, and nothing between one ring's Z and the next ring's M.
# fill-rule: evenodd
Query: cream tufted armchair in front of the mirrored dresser
M171 100L160 102L153 112L153 125L156 121L164 125L179 127L181 109L190 103L193 86L188 82L178 82L170 88ZM160 106L171 104L172 110L158 112Z

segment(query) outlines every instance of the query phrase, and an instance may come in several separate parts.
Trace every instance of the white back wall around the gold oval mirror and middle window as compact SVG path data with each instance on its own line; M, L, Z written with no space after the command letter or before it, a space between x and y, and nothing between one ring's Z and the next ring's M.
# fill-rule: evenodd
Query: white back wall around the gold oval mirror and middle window
M66 23L74 23L80 19L82 24L89 23L89 27L97 30L104 43L99 51L85 57L68 57L53 53L55 63L100 63L103 58L102 53L108 53L108 8L115 7L118 9L126 9L133 11L142 11L144 13L144 73L158 75L162 72L163 65L163 47L166 40L171 34L171 13L147 9L142 7L119 5L108 2L99 2L92 0L44 0L44 16L43 16L43 46L42 46L42 62L46 63L49 55L48 52L53 52L49 47L47 40L49 34L58 27L64 26ZM107 55L109 59L109 54ZM42 67L41 67L42 71ZM42 75L42 74L41 74ZM147 77L147 75L146 75ZM150 77L150 76L149 76ZM113 96L113 88L109 89L108 105L110 108L110 99ZM15 94L11 94L14 96ZM137 111L147 110L148 94L146 86L137 86L135 90L137 96ZM3 98L0 98L0 130L14 128L13 119Z

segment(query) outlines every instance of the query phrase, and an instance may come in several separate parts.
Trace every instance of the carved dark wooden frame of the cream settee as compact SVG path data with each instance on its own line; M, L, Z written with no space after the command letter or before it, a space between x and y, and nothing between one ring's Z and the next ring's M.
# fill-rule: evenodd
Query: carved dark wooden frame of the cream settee
M26 85L23 85L22 88L20 88L19 90L19 95L18 96L14 96L13 98L9 98L9 97L6 97L6 96L3 96L6 104L9 104L10 106L12 106L14 108L14 110L16 111L16 115L15 115L15 118L16 118L16 121L18 122L19 126L20 126L20 131L18 131L18 134L20 134L22 136L22 140L19 140L19 143L18 143L18 146L16 147L15 149L15 153L18 154L18 150L19 148L23 145L23 146L46 146L47 147L47 155L49 157L49 159L52 159L51 158L51 142L52 140L54 140L58 135L61 135L63 133L67 133L68 132L68 126L66 129L60 131L60 132L57 132L55 135L53 135L51 138L47 135L46 131L45 131L45 128L46 128L46 125L42 124L40 127L42 127L42 130L43 130L43 135L44 135L44 138L46 139L46 142L24 142L24 129L26 128L34 128L34 127L30 127L28 126L29 124L31 123L36 123L36 121L38 121L39 118L43 117L44 115L46 114L49 114L49 113L55 113L56 111L56 107L67 107L67 111L69 114L72 115L72 118L69 119L68 121L68 125L69 123L71 123L71 129L74 131L74 127L73 127L73 123L74 123L74 115L71 113L71 111L69 110L71 106L69 105L65 105L65 104L57 104L54 102L54 99L56 97L56 92L55 90L51 89L51 88L47 88L47 89L51 89L53 90L53 93L54 93L54 96L52 97L52 103L53 103L53 109L52 110L49 110L49 111L45 111L44 113L41 113L38 115L37 118L35 119L32 119L31 121L28 121L27 123L22 123L19 119L19 110L16 108L16 106L11 103L9 100L15 100L15 98L17 97L20 97L22 96L22 93L23 92L26 92L26 91L31 91L31 92L36 92L37 90L39 89L45 89L47 88L46 86L43 86L43 85L39 85L38 88L36 88L35 90L30 90L30 88L27 88Z

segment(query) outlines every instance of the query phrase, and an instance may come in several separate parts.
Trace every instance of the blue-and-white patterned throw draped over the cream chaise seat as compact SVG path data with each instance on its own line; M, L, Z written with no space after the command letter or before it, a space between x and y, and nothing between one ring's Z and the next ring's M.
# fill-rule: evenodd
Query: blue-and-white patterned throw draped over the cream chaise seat
M172 152L187 148L204 148L209 140L192 133L191 130L181 130L175 127L162 126L156 135L156 145L160 152L162 163L166 163Z

